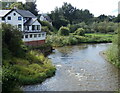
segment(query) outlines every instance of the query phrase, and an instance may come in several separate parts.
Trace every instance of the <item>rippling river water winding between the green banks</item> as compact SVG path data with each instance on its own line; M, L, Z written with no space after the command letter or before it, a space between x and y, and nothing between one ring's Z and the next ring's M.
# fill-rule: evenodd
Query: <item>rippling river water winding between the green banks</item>
M81 44L55 48L48 56L56 66L55 76L42 84L24 86L24 91L115 91L118 69L100 52L110 44Z

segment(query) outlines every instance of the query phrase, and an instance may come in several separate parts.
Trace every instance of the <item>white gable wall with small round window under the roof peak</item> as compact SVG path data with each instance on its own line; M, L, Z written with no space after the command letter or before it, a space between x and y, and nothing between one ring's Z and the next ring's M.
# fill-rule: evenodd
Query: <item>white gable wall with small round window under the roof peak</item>
M14 13L16 14L14 16ZM8 17L11 16L11 20L8 20ZM22 17L20 14L18 14L16 11L12 11L9 15L5 17L5 22L14 26L18 26L18 24L22 25L21 31L23 31L23 17L22 20L18 20L18 17Z

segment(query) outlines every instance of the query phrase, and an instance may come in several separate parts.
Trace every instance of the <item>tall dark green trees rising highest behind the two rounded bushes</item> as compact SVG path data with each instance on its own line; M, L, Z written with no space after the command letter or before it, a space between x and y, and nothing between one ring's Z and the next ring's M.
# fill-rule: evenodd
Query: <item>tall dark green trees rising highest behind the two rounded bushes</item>
M50 17L53 20L53 26L59 29L61 26L67 26L68 24L78 24L80 22L90 23L93 14L87 9L80 10L71 4L64 3L62 7L56 7L51 12Z

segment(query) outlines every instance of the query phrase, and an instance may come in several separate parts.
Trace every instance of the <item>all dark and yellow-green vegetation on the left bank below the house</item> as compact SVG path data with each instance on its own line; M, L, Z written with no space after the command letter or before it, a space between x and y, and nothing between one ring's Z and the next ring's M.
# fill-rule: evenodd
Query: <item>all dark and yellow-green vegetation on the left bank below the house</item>
M20 85L41 83L55 73L51 61L36 51L29 50L21 33L13 26L2 24L3 92L13 91ZM45 49L45 45L39 48Z

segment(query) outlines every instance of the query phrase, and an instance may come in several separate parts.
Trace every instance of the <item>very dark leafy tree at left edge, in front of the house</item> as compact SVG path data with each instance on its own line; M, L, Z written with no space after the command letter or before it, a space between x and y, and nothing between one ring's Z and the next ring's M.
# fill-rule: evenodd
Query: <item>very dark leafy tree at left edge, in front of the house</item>
M10 24L2 24L3 59L8 57L8 53L15 57L24 57L25 50L22 47L23 42L21 40L21 36L21 32L15 27Z

